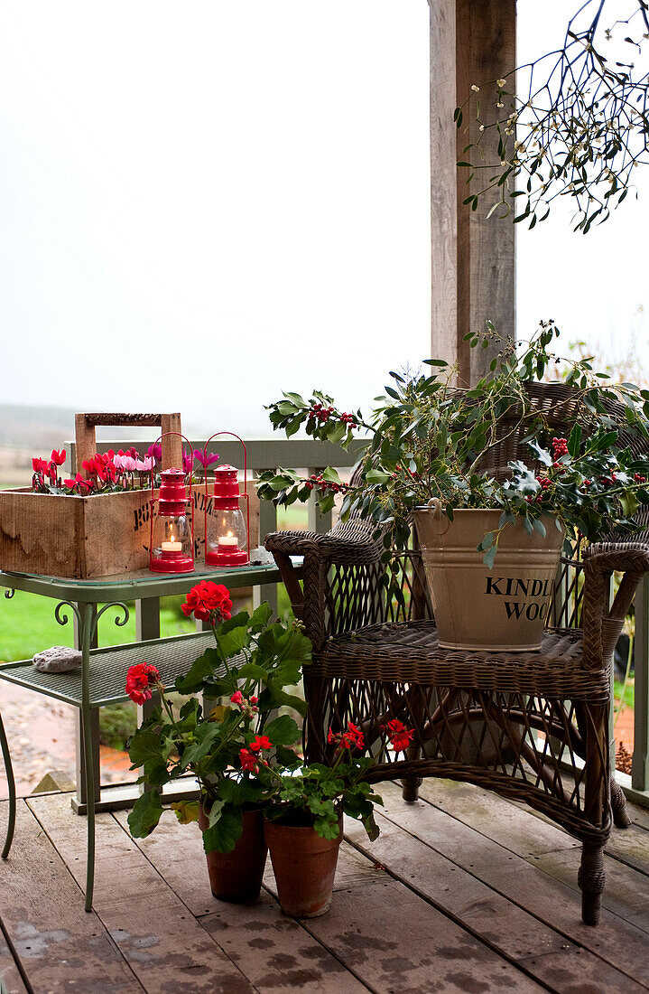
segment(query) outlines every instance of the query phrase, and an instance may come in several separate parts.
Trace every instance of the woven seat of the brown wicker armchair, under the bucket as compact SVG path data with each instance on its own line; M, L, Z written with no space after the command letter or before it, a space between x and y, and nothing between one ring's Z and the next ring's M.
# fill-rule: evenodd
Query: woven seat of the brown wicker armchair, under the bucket
M310 667L318 677L534 694L605 704L607 668L585 669L581 629L546 631L537 652L441 649L432 620L374 624L327 640Z

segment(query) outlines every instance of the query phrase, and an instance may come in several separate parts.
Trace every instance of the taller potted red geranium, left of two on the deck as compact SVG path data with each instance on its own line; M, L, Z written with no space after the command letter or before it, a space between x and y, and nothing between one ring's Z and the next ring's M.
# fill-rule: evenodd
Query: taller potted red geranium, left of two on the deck
M129 828L135 838L149 835L163 813L163 786L194 773L198 801L172 807L181 822L198 821L214 896L253 901L266 862L262 811L270 796L257 774L300 736L293 718L271 713L289 707L304 714L304 701L285 688L299 683L311 642L297 623L271 623L268 603L232 617L222 584L197 583L182 606L186 615L209 622L215 645L176 681L173 703L155 666L142 663L128 672L126 692L136 703L160 695L128 746L132 768L140 767L140 780L148 784ZM195 694L202 694L202 706L190 696Z

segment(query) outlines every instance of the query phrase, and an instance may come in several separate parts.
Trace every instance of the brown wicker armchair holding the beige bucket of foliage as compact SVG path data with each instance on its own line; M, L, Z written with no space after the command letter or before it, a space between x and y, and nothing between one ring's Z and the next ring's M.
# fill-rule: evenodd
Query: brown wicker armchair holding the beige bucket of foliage
M560 430L571 422L570 391L536 385L538 405ZM507 434L506 465L518 457ZM630 442L640 451L638 439ZM376 754L371 779L400 777L417 798L425 776L467 780L526 801L583 843L583 918L599 919L602 851L612 814L626 827L624 797L611 779L609 708L613 648L641 575L649 532L591 545L564 560L548 628L537 652L441 649L416 550L399 557L403 603L381 582L381 544L355 520L325 535L266 537L293 609L314 643L305 673L305 748L327 761L327 731L348 721ZM300 585L291 556L304 557ZM609 607L609 580L623 573ZM415 729L408 753L382 745L380 729L398 718Z

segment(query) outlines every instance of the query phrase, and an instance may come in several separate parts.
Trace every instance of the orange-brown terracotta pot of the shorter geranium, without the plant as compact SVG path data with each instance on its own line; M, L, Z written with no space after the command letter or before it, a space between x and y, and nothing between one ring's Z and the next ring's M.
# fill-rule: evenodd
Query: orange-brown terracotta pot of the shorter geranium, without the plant
M316 918L331 907L333 878L342 840L342 814L336 839L323 839L314 828L267 821L280 906L294 918Z

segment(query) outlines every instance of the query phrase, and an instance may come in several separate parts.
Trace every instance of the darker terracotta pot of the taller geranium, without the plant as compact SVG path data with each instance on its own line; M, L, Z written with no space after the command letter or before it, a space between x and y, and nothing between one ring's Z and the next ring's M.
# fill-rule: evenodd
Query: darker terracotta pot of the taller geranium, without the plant
M198 826L207 828L207 815L200 805ZM264 815L260 808L244 811L243 831L231 853L205 853L211 893L219 901L246 905L256 901L266 866L268 847L264 839Z

